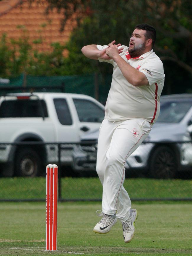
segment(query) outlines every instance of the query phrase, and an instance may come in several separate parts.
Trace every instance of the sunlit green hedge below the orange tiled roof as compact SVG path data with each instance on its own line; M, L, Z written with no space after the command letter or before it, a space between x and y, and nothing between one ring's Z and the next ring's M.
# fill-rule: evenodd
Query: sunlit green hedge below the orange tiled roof
M7 39L6 34L0 39L0 77L15 77L24 74L31 75L69 75L74 70L69 69L69 60L64 58L66 46L52 43L50 52L40 52L35 44L43 44L41 34L29 42L29 32L25 26L17 27L22 31L18 40ZM71 65L72 67L72 65Z

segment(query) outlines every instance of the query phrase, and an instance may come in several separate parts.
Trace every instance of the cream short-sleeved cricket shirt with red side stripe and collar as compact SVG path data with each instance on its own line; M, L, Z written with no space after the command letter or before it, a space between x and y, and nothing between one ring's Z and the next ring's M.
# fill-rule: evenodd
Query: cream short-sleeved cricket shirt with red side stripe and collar
M97 45L99 50L108 47ZM123 76L116 62L99 59L113 65L113 77L105 105L105 119L121 121L133 118L146 119L154 124L160 112L160 95L164 85L165 74L160 58L153 50L136 58L128 54L127 46L120 56L132 67L144 73L149 85L134 86Z

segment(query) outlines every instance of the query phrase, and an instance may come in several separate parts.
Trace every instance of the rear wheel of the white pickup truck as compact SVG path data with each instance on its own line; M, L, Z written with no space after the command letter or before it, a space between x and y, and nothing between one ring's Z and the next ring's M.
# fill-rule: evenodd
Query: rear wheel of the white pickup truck
M19 150L15 158L16 175L23 177L35 177L40 172L40 157L31 148Z

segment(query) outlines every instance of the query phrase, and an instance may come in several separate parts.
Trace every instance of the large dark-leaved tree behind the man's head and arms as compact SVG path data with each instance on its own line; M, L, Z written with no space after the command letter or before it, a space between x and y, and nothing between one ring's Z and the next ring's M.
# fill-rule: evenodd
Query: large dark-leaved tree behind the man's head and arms
M112 40L128 45L136 24L148 23L157 30L154 51L164 63L165 93L180 92L180 83L190 91L192 81L192 5L189 0L47 0L47 12L57 8L64 14L61 30L66 20L76 12L77 28L67 44L69 65L74 72L112 72L110 65L87 60L81 48L88 44L108 44ZM82 65L79 64L81 61ZM182 90L182 88L181 88Z

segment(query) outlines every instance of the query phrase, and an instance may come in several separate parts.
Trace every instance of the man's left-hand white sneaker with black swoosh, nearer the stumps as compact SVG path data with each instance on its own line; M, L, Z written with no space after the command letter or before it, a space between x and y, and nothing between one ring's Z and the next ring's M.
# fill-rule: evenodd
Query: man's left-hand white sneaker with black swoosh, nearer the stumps
M116 214L114 214L114 215L106 215L102 211L97 210L97 215L98 216L102 216L102 219L100 220L100 222L98 222L95 225L95 227L93 229L93 231L95 233L106 234L106 233L108 233L110 231L112 226L114 226L116 224L116 222L117 222Z

